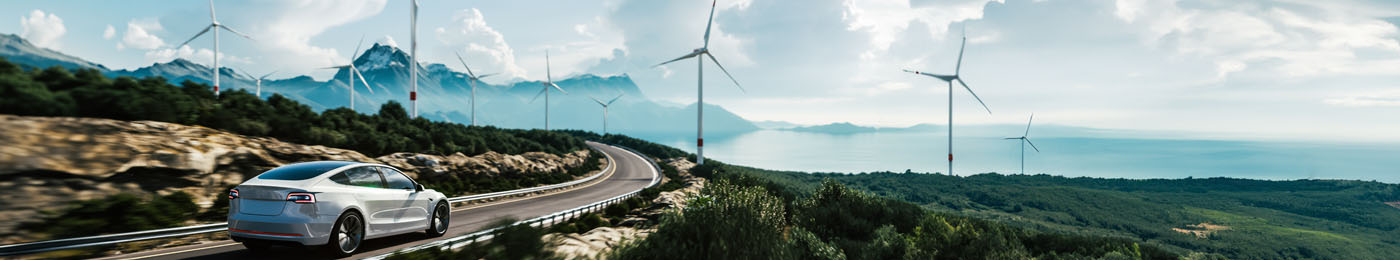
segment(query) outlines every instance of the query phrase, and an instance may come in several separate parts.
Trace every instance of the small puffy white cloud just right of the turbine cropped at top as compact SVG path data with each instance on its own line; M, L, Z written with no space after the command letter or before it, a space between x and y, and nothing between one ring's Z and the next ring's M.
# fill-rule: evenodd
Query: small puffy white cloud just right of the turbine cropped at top
M491 64L487 70L501 71L504 77L528 77L525 68L515 63L515 49L505 36L486 24L480 10L459 10L447 28L437 28L438 39L445 45L465 46L463 56L486 56ZM475 53L475 55L473 55Z

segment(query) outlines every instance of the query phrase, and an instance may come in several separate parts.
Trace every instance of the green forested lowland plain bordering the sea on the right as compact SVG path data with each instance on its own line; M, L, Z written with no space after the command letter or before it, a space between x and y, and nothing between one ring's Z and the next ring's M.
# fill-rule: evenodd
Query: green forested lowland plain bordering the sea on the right
M1229 259L1389 259L1400 254L1400 186L1359 180L1098 179L1049 175L832 175L759 171L798 190L833 179L941 212L1040 231L1142 240ZM1204 238L1173 228L1228 226Z

